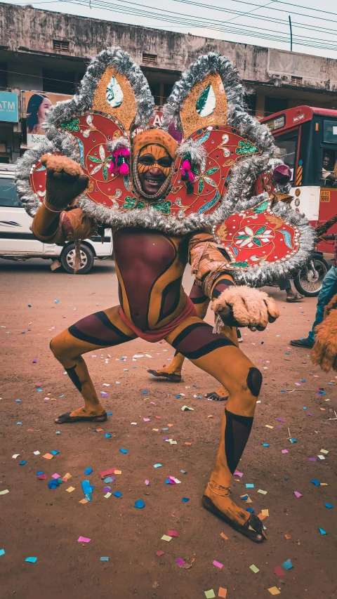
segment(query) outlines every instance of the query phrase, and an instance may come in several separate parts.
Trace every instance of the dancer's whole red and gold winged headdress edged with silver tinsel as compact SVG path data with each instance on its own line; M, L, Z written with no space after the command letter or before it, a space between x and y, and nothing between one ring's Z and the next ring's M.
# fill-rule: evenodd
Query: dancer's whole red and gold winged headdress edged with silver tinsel
M18 162L17 188L27 212L34 216L44 200L40 157L58 152L89 176L78 205L98 223L173 235L216 228L240 282L265 284L300 268L312 250L312 230L283 202L272 208L272 171L282 161L267 128L245 112L231 62L218 53L201 56L173 87L162 130L149 131L166 148L169 139L172 147L180 141L159 197L142 192L135 170L143 135L137 129L148 129L153 112L150 88L130 56L121 48L98 54L79 94L48 112L46 141ZM282 180L280 171L277 176Z

